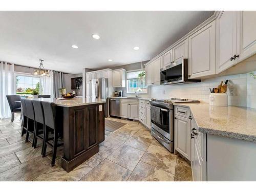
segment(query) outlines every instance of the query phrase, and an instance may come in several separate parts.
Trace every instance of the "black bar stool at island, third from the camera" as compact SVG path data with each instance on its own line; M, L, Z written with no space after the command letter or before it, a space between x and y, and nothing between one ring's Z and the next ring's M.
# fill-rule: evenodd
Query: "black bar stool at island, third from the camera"
M26 134L26 142L29 140L29 134L33 134L35 132L35 112L34 112L34 106L32 104L32 100L25 99L25 105L27 108L27 116L28 116L28 126L27 126L27 134ZM34 146L34 138L32 142L32 146Z

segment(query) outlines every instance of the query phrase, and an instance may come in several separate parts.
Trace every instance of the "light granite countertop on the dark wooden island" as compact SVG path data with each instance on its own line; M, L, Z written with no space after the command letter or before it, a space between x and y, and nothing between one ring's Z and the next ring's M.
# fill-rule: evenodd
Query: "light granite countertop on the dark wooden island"
M64 107L81 106L81 105L89 105L89 104L106 102L105 99L93 99L93 98L81 98L81 97L77 97L76 99L69 99L69 100L60 100L56 98L40 98L37 100L54 102L57 106L64 106Z

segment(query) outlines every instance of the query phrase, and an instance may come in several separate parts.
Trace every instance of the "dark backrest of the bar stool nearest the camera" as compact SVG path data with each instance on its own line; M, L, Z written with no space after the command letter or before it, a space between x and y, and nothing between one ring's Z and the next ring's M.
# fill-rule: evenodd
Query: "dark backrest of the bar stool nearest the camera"
M56 130L56 104L53 102L41 101L45 114L45 124Z

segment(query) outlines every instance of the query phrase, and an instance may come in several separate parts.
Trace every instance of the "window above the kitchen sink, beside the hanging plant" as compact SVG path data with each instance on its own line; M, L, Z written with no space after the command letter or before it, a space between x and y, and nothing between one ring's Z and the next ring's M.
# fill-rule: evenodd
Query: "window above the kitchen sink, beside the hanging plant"
M127 71L126 72L126 93L147 93L145 78L138 79L140 71Z

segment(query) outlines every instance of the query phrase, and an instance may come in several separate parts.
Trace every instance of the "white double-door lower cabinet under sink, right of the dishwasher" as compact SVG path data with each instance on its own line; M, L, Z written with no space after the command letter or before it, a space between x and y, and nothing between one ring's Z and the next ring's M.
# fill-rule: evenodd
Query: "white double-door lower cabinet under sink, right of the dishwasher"
M131 101L134 100L134 101ZM127 99L127 101L131 102L125 102L125 99L121 99L120 102L120 116L122 118L127 119L134 119L139 120L139 102L138 99Z

